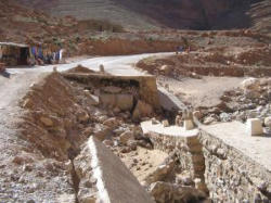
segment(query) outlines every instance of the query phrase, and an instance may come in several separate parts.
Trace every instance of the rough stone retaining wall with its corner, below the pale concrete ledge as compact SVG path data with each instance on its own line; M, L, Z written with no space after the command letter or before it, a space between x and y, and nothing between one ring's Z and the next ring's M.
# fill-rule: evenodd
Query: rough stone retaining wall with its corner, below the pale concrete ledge
M176 153L183 170L202 180L214 202L270 202L271 172L201 130L192 137L146 134L154 148ZM207 189L205 188L207 187Z

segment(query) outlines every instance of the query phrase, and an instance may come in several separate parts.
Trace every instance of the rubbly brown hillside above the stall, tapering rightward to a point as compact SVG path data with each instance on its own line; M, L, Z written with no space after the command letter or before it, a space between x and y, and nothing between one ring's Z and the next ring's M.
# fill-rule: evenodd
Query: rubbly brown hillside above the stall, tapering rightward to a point
M15 1L0 0L0 40L64 42L60 38L76 38L91 31L124 31L121 26L105 21L77 21L55 17L44 12L21 7Z

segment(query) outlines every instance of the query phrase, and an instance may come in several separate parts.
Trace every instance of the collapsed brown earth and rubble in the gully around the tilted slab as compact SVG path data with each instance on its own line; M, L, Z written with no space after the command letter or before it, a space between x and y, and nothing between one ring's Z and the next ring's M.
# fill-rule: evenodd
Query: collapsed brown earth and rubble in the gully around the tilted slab
M72 72L87 73L85 67ZM21 120L22 140L28 143L28 149L14 156L10 165L18 168L11 182L15 187L25 186L21 190L25 193L17 195L20 200L22 196L33 202L96 200L96 180L92 177L88 155L91 153L86 148L91 136L122 160L156 202L201 202L206 199L194 188L193 181L180 181L175 154L154 150L150 138L134 122L151 119L151 116L162 120L163 116L155 114L144 101L137 101L134 94L131 94L131 100L122 97L113 105L111 97L104 98L104 93L115 97L132 93L128 86L113 85L105 81L100 88L91 88L90 84L87 87L65 79L56 69L41 83L31 85L31 90L21 102L25 110ZM41 188L48 179L51 179L50 183ZM61 180L65 181L57 187L57 193L49 195L50 188L56 188ZM11 200L16 200L9 190L10 183L5 181L2 190L10 194Z

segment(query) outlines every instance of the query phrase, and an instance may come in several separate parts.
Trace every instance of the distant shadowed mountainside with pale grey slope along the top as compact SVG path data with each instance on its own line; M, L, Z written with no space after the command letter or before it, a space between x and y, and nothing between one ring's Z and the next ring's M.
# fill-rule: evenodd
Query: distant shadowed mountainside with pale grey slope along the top
M16 0L54 15L111 20L128 28L270 28L270 0Z

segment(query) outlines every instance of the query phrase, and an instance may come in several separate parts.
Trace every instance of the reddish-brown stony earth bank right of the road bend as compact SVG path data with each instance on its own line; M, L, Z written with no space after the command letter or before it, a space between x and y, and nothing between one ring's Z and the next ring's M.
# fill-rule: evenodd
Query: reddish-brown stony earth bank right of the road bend
M216 47L181 53L163 59L147 59L138 63L155 75L175 78L191 76L271 76L271 49L262 47Z

